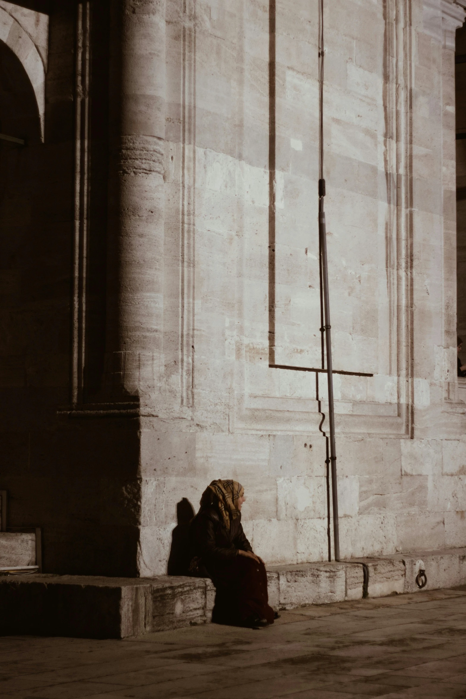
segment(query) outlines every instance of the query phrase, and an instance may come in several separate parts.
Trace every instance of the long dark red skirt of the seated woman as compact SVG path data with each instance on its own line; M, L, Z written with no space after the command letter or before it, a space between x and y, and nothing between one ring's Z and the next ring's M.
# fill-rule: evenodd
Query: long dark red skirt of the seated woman
M268 605L265 565L237 556L214 576L217 589L212 612L214 624L242 626L253 616L273 624L274 611Z

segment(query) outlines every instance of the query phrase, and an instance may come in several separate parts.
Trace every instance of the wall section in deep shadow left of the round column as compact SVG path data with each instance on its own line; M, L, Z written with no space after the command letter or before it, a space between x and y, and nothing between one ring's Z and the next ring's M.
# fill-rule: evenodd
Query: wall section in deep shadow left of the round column
M105 351L108 3L92 17L86 393ZM0 43L0 487L8 526L43 528L45 572L136 575L137 419L68 419L76 4L50 15L45 139L29 78Z

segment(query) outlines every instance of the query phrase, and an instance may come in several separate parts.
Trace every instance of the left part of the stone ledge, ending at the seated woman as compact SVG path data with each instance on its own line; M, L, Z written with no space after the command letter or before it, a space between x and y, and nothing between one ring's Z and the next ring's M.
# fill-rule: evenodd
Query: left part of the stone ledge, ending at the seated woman
M124 638L210 621L214 586L192 577L0 578L0 633Z

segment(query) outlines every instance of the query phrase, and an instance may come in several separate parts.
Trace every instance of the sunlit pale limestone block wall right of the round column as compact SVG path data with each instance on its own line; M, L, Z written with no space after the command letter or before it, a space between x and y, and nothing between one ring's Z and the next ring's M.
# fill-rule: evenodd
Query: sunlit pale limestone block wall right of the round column
M270 367L321 366L317 3L166 7L164 236L185 246L176 284L166 269L166 318L179 293L182 331L164 336L158 417L141 421L140 571L166 570L177 501L197 510L215 477L245 485L245 530L268 563L323 561L325 376ZM335 375L344 558L466 541L454 203L463 18L435 0L326 7L334 366L354 373Z

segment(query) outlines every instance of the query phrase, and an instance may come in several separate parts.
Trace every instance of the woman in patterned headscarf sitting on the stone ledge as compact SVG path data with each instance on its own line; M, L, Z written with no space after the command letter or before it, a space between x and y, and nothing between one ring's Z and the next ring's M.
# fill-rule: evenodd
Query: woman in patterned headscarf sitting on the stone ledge
M231 626L273 624L267 574L241 525L245 489L233 480L214 480L205 489L201 509L191 521L191 575L215 585L212 621ZM275 617L276 618L276 617Z

